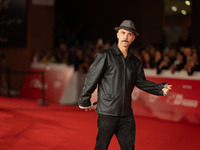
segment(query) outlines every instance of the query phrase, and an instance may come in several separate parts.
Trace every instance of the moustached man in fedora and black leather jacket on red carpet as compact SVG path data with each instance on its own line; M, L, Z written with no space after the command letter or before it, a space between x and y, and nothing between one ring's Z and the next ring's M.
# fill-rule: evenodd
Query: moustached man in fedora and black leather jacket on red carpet
M98 134L95 150L107 150L115 134L122 150L134 150L135 120L131 107L134 86L155 95L167 95L171 85L145 79L142 63L128 51L139 36L131 20L115 28L118 44L96 54L82 90L79 107L91 110L91 94L98 85Z

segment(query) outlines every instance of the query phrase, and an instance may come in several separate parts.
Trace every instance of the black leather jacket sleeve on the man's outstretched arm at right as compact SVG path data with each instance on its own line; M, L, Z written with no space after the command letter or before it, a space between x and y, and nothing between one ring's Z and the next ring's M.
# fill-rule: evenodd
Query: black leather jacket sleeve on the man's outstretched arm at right
M166 83L164 83L164 82L160 83L160 84L156 84L154 82L146 80L144 70L143 70L143 67L142 67L142 63L139 64L138 73L137 73L137 80L136 80L136 86L139 89L141 89L145 92L148 92L150 94L164 96L162 89L164 88L165 84Z

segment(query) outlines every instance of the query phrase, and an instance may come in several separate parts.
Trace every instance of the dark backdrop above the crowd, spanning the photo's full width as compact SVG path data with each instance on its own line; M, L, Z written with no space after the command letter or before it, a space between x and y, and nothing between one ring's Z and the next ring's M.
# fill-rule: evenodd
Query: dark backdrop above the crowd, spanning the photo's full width
M12 41L6 47L0 43L0 55L5 56L6 65L13 70L28 70L36 49L50 51L61 42L70 46L74 44L70 41L76 38L78 46L95 43L98 38L112 45L117 41L114 28L124 19L133 20L140 33L132 46L170 46L180 39L189 39L191 45L200 44L199 0L191 1L185 16L180 10L173 13L170 9L174 2L180 5L184 0L55 0L52 5L9 0L10 8L5 15L2 4L6 1L0 2L0 20L6 20L5 16L23 20L20 25L13 24L10 28L1 25L0 29L0 36L9 35Z

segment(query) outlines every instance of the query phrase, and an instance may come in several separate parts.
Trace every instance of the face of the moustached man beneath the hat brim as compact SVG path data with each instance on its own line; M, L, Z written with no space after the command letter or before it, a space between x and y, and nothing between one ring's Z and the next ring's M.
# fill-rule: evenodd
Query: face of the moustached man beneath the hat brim
M118 44L129 46L135 39L135 34L125 29L119 29L117 32Z

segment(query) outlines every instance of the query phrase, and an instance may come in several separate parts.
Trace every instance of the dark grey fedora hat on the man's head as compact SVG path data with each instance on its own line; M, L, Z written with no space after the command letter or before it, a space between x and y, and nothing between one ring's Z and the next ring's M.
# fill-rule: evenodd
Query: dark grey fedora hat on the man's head
M131 20L124 20L119 27L115 27L115 30L118 31L119 29L125 29L135 33L136 36L139 36L139 33L135 29L135 25Z

